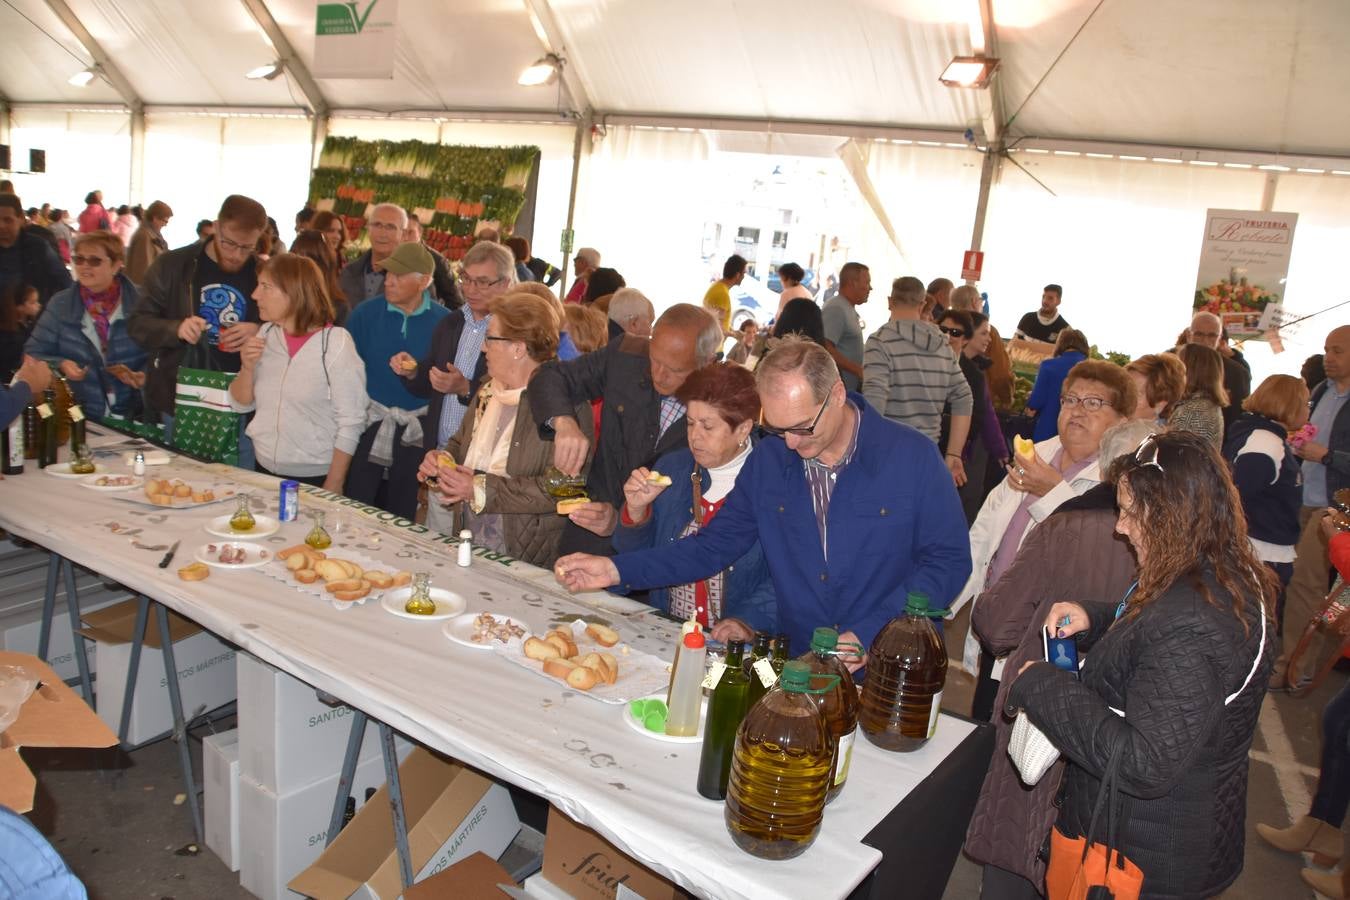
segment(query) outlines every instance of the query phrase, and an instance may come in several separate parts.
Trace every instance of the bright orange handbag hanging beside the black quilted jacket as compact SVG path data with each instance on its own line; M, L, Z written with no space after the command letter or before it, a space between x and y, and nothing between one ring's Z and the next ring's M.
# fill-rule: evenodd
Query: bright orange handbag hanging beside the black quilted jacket
M1048 900L1138 900L1143 888L1143 870L1115 847L1119 837L1119 768L1125 745L1116 743L1102 776L1092 807L1088 833L1069 838L1057 827L1050 828L1050 864L1045 869ZM1094 841L1102 810L1106 808L1106 843Z

